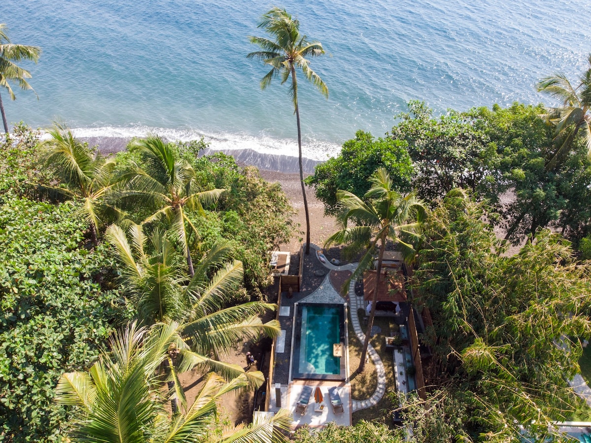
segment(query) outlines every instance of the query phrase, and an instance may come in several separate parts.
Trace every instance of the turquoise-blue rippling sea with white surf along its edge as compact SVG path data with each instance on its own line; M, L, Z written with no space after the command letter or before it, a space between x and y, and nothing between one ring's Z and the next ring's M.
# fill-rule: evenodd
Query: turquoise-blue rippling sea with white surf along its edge
M268 1L4 0L12 41L43 48L10 122L59 117L80 136L156 131L213 148L297 155L287 85L259 89L248 35ZM322 41L313 69L327 101L300 82L304 156L326 159L356 129L382 135L410 99L447 108L547 101L540 77L576 78L591 52L589 0L302 0L277 3ZM301 80L301 79L300 79Z

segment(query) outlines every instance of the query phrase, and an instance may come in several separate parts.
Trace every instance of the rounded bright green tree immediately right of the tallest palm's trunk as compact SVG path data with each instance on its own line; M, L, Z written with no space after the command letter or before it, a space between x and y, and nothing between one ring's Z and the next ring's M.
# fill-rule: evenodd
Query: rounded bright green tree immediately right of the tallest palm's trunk
M392 138L378 138L357 131L355 138L343 143L340 154L319 164L306 183L314 187L316 197L324 203L324 212L335 215L339 211L336 193L346 190L362 196L368 192L369 177L384 167L398 192L409 192L413 166L407 144Z

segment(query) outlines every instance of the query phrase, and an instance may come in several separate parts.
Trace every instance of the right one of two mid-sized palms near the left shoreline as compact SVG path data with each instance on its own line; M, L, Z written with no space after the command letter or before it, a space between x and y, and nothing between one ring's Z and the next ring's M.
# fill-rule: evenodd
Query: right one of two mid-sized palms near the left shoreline
M176 229L183 245L189 275L194 275L191 258L189 231L198 237L197 229L186 215L186 209L202 210L202 205L209 205L219 198L224 189L200 190L195 171L187 161L177 158L170 144L158 135L135 141L131 150L144 154L145 169L135 167L131 180L124 189L112 194L115 201L145 205L155 212L143 223L150 223L167 218Z

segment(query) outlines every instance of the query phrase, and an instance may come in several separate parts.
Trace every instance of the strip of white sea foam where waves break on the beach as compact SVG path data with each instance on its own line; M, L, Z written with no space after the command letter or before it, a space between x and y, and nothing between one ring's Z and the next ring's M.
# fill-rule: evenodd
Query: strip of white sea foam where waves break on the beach
M223 134L203 132L190 129L137 127L96 127L73 128L72 132L78 138L124 138L145 137L152 133L158 134L171 141L199 140L201 137L209 143L210 148L220 151L252 149L262 154L277 154L297 157L297 141L269 137L269 135ZM317 140L306 140L302 146L302 156L306 159L324 161L335 157L340 152L340 146L335 143Z

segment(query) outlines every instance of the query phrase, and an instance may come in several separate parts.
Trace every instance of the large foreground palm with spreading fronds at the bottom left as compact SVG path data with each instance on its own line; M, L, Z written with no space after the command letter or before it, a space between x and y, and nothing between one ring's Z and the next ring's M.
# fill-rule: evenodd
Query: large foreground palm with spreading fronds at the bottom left
M76 408L69 437L104 443L283 441L279 429L290 422L285 410L245 428L215 432L216 401L248 386L245 376L225 381L209 374L194 403L187 405L182 396L181 408L170 415L167 403L177 393L161 389L158 367L171 347L183 345L177 326L132 325L110 340L110 352L103 351L87 373L60 377L57 403Z

